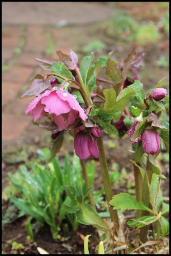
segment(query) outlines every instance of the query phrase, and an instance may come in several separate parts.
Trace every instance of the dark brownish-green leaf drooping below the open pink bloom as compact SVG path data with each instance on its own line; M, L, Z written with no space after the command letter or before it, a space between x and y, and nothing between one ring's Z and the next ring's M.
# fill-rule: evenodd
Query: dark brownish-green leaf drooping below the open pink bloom
M59 132L55 140L51 140L51 143L50 143L51 157L49 158L48 163L50 163L52 159L56 156L56 154L59 152L61 146L63 145L63 141L64 141L64 130Z

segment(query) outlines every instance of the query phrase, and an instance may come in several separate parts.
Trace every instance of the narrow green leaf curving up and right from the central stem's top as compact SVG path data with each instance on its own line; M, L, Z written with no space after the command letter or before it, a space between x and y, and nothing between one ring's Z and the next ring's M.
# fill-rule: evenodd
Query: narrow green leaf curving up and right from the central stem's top
M96 75L98 74L100 68L106 66L107 58L107 56L100 57L91 65L91 67L89 67L86 77L86 86L89 93L93 92L94 87L96 86Z

